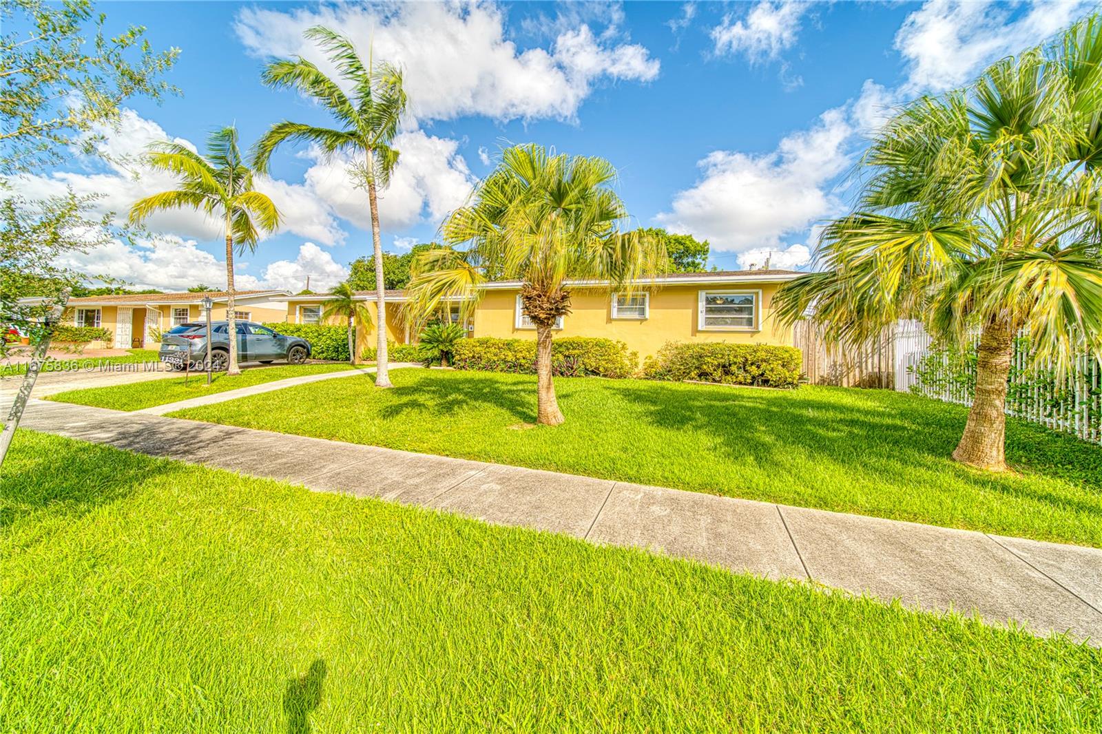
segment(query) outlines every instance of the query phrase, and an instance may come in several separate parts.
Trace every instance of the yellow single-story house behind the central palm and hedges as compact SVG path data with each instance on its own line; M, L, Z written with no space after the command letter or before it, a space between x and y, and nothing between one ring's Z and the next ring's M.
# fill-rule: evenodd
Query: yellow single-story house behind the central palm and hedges
M640 357L655 354L667 342L791 345L792 330L776 323L771 302L781 283L800 274L791 270L673 273L637 283L630 294L615 295L571 283L573 311L562 319L557 335L619 339ZM536 338L536 330L521 312L519 281L490 282L483 288L487 292L467 326L469 336ZM357 296L367 302L374 316L375 292ZM320 323L328 298L303 294L274 300L285 302L287 321L301 324ZM406 323L402 291L387 291L386 301L387 337L399 343L417 341L415 328ZM458 321L458 304L453 304L451 319ZM360 349L369 344L363 330L358 344Z

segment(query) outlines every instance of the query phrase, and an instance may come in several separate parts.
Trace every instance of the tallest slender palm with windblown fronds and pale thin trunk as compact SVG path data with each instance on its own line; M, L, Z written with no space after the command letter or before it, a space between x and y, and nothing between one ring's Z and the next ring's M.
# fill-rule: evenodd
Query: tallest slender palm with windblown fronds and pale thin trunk
M390 64L372 65L370 57L365 66L352 41L326 28L314 26L305 35L316 41L328 54L341 78L350 87L352 95L345 94L336 82L301 56L293 61L269 64L263 72L263 82L273 87L291 87L313 97L337 118L341 127L320 128L284 120L273 125L257 142L252 161L257 171L267 172L272 153L287 141L313 143L326 155L345 153L354 159L353 173L360 185L367 188L367 202L371 212L375 282L380 284L376 289L376 313L381 326L378 330L375 384L378 387L390 387L387 371L387 304L381 287L382 245L379 239L376 190L390 182L390 174L398 164L398 151L390 143L398 132L399 119L406 111L402 74Z

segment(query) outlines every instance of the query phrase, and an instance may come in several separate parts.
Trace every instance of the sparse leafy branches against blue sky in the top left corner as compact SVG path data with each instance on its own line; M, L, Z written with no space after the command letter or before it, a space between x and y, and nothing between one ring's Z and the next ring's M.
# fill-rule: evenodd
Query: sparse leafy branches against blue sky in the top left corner
M159 77L179 48L153 51L139 25L114 36L105 25L88 0L0 0L0 172L56 163L78 138L94 152L89 133L114 125L126 99L176 91Z

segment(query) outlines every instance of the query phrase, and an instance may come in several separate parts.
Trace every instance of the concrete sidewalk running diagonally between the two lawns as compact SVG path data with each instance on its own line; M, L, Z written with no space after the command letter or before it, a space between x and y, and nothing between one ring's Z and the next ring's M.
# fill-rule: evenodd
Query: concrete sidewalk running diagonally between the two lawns
M22 427L1102 644L1102 550L32 400Z

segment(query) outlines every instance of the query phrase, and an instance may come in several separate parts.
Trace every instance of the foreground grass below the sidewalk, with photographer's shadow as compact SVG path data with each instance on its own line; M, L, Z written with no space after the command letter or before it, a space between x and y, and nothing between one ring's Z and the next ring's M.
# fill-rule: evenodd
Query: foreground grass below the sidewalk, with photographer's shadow
M9 462L4 732L1102 727L1062 638L28 431Z

